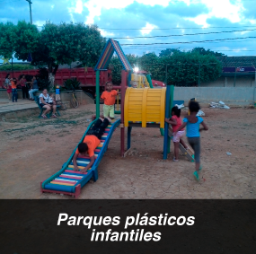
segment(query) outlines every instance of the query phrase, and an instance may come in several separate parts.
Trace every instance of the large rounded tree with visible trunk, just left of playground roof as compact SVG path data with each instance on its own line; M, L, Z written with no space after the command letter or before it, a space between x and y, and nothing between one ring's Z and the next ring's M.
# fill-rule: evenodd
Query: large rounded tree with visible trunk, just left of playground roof
M52 89L59 65L70 65L81 60L84 65L93 66L100 57L103 46L104 39L96 26L47 22L40 31L37 50L32 54L32 64L48 66Z

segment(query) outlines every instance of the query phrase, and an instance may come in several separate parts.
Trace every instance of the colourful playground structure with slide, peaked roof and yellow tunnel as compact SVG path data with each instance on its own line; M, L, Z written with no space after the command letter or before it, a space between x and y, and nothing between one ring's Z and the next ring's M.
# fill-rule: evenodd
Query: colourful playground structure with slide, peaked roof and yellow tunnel
M133 69L120 48L119 42L113 39L109 39L107 42L103 49L102 56L94 68L96 71L96 118L100 117L100 72L107 71L107 66L110 63L110 58L114 52L118 55L123 66L120 86L120 119L110 123L105 129L101 145L99 145L94 152L96 160L93 163L92 168L85 174L82 174L79 171L74 171L72 160L78 146L76 145L75 150L67 162L63 164L62 169L48 180L40 183L41 192L53 192L78 197L81 188L89 180L93 178L93 180L96 181L98 179L98 165L102 160L103 154L107 150L110 138L116 127L120 128L120 155L122 157L124 157L125 153L130 149L132 127L164 128L163 159L167 159L167 153L170 153L172 137L169 135L169 124L164 121L164 118L170 118L174 87L173 85L167 85L166 88L162 89L150 89L153 88L152 83L149 85L150 88L130 87L128 84L130 84ZM88 130L93 126L93 123L94 121L87 127L84 136L86 136ZM127 151L125 150L125 127L128 127ZM81 142L84 141L84 136L82 137ZM185 149L183 148L183 150ZM183 151L183 153L187 155L190 161L192 160L190 153L187 153L186 150ZM78 156L77 158L77 165L80 170L84 169L89 162L89 157Z

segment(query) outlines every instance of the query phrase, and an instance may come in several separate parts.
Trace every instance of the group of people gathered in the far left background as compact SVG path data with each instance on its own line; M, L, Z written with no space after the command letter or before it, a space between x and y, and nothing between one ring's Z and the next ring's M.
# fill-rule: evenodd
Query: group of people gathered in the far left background
M9 101L17 102L18 100L18 93L17 93L17 86L21 85L22 87L22 99L29 99L34 101L34 92L39 91L37 77L33 76L32 81L28 82L25 78L25 75L22 75L22 78L17 81L15 77L11 78L11 74L6 74L4 87L7 90L7 95ZM12 98L11 98L12 93Z

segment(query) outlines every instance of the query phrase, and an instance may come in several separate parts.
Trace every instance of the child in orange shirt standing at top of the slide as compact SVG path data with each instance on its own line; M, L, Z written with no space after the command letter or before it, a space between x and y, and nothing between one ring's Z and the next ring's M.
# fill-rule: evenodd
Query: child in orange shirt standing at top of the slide
M101 101L104 101L103 115L104 118L115 118L114 104L116 102L116 97L120 92L113 89L113 84L108 81L106 83L106 91L102 92Z

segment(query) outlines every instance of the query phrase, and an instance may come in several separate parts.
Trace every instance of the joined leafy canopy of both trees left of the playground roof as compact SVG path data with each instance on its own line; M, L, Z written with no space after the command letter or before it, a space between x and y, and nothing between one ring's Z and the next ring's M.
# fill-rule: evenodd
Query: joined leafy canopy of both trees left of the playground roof
M0 23L0 34L1 56L27 60L31 54L31 65L48 66L52 84L59 65L81 61L94 66L105 44L97 26L84 23L46 22L39 31L30 22L7 22Z

